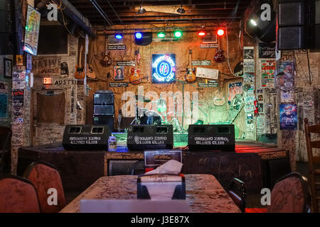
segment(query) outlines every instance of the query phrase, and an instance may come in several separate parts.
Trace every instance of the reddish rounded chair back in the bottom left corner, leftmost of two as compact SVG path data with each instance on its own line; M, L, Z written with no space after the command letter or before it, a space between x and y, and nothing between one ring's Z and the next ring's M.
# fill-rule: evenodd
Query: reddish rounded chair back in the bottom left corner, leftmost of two
M38 195L33 184L23 177L0 177L0 213L39 213Z

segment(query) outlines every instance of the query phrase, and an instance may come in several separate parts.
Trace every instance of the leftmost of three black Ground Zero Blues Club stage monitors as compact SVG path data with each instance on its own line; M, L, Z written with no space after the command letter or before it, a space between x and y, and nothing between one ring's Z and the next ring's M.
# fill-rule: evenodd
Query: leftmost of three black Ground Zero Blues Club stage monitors
M65 126L65 150L108 150L109 126Z

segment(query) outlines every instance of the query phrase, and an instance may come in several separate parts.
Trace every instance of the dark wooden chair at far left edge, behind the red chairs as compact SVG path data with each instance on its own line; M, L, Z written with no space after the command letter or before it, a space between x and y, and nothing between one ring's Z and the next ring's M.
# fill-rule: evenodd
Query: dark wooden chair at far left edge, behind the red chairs
M9 152L11 146L11 128L0 126L0 174L6 169L4 161L5 154ZM9 169L9 167L7 167Z

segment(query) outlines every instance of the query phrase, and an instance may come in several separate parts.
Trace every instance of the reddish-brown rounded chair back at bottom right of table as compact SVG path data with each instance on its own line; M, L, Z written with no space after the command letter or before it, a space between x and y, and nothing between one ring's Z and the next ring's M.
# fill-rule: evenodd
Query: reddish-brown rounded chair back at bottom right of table
M267 213L310 213L311 192L306 177L297 172L277 180Z

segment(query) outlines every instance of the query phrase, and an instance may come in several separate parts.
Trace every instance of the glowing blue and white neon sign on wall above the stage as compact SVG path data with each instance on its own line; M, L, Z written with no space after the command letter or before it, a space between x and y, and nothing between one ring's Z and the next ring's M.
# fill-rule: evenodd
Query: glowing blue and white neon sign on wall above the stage
M176 55L152 55L152 82L170 83L176 79Z

